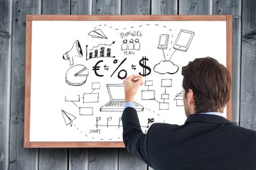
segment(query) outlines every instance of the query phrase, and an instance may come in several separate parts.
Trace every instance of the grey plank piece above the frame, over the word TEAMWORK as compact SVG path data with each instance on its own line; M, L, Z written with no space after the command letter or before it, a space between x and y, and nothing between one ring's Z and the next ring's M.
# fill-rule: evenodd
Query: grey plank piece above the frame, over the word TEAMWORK
M122 15L148 15L149 3L149 0L122 0Z

